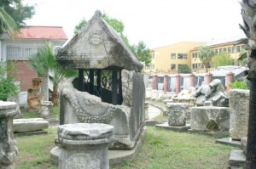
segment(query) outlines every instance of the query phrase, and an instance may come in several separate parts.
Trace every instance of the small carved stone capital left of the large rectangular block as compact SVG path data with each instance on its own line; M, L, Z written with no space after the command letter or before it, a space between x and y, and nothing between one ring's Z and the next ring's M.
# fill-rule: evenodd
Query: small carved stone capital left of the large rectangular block
M186 126L186 114L189 104L167 103L166 108L169 126Z

